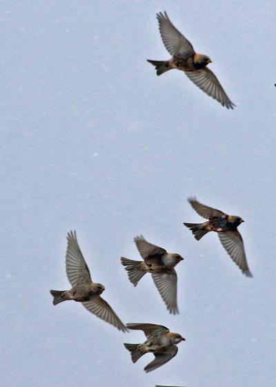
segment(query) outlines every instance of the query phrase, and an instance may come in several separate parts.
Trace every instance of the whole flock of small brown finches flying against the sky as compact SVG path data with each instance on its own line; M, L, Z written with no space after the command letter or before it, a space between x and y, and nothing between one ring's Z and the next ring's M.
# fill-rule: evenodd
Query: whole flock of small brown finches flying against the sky
M233 109L235 105L226 95L215 74L206 67L211 63L210 58L195 53L193 46L173 26L166 12L164 14L159 12L157 20L164 46L172 55L168 61L148 60L155 66L157 75L173 68L182 70L201 90L220 102L222 106ZM251 277L242 236L237 230L244 220L239 216L228 215L219 209L203 205L196 198L189 198L188 202L206 221L204 223L184 223L184 225L193 232L197 240L208 232L217 232L229 256L242 270L242 273ZM81 302L89 312L114 325L122 332L144 331L146 336L144 343L124 343L124 346L130 352L133 363L146 353L151 352L154 355L154 359L144 368L145 372L155 370L175 357L178 350L177 344L185 341L184 337L179 333L170 332L164 325L152 323L127 323L125 325L101 297L105 287L101 283L92 281L88 265L77 241L76 232L69 232L67 240L66 274L72 288L70 290L50 290L53 304L57 305L69 300ZM171 314L178 314L175 266L184 258L179 254L167 252L163 247L149 243L143 236L136 236L134 241L143 261L121 257L121 264L128 274L128 279L132 285L136 286L146 273L150 273L168 311Z

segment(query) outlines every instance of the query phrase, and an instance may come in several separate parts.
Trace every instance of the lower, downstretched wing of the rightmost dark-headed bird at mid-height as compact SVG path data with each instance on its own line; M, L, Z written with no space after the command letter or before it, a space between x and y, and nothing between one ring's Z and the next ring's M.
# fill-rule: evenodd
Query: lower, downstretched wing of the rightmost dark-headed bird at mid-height
M218 232L217 234L219 234L219 240L221 241L221 245L224 246L224 249L226 249L226 252L228 252L235 264L239 266L239 268L246 276L252 277L253 275L250 273L246 261L244 242L238 230Z

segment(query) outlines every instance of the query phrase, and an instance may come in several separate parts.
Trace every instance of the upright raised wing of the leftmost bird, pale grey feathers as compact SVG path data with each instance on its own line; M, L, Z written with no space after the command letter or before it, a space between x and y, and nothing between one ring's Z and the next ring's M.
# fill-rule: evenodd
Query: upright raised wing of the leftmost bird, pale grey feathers
M72 286L92 282L88 265L83 258L76 232L68 232L66 250L66 274Z

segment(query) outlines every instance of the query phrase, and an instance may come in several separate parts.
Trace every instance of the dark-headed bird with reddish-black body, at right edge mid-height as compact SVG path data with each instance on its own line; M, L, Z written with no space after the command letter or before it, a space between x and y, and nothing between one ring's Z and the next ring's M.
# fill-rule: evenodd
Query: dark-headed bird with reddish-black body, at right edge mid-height
M199 240L210 231L217 232L221 244L236 265L239 266L246 276L252 277L246 261L244 242L241 234L239 234L239 231L237 230L237 227L239 227L244 220L239 216L228 215L219 209L202 205L196 198L189 198L188 202L193 209L197 211L197 214L208 219L208 221L204 223L184 223L184 225L193 232L195 238Z

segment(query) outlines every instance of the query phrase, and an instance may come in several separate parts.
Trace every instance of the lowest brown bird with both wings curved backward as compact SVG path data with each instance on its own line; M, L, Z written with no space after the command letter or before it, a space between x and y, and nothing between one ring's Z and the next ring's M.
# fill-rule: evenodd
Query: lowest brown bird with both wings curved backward
M172 357L177 355L177 344L185 341L179 333L173 333L164 325L149 323L131 323L126 324L129 329L144 330L146 341L141 344L124 343L127 350L130 351L132 362L135 363L145 353L152 352L155 355L148 366L144 368L146 372L155 370L163 366Z

